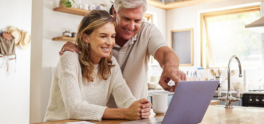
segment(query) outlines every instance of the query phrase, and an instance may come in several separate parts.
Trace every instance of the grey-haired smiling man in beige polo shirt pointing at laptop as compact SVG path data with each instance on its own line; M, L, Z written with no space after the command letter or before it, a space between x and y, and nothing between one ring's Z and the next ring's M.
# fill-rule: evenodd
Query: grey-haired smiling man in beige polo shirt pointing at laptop
M179 58L168 47L161 32L154 24L143 20L146 10L146 0L114 1L116 44L112 52L120 65L123 78L137 100L148 96L147 73L150 55L154 56L163 68L159 81L163 89L173 92L179 81L186 80L185 73L178 69ZM80 52L77 45L67 42L59 54L74 50ZM168 85L171 79L175 81L174 86ZM108 106L116 107L113 97L109 99Z

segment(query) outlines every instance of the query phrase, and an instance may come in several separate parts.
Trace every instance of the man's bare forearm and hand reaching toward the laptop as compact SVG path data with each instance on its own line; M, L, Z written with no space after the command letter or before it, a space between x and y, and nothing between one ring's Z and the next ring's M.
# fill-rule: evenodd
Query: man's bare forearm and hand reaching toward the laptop
M160 67L163 69L159 81L159 84L163 89L173 92L179 81L186 81L186 74L179 70L179 57L170 49L170 47L160 47L155 52L154 58L159 62ZM175 81L175 86L168 85L170 79Z

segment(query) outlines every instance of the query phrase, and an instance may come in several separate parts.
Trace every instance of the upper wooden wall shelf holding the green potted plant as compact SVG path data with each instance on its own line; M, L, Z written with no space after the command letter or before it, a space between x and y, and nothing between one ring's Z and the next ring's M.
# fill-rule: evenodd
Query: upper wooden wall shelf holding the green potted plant
M75 14L75 15L80 15L80 16L85 16L85 14L89 12L89 10L72 8L72 7L65 7L65 6L60 6L60 7L54 8L53 11L70 13L70 14Z

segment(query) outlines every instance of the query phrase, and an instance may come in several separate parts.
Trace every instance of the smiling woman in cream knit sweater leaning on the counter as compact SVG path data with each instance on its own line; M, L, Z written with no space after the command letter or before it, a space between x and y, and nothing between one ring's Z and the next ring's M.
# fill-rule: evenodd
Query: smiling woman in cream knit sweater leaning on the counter
M60 57L45 121L149 118L151 103L136 101L112 57L115 34L114 19L106 11L84 16L75 38L82 53L67 51ZM111 93L118 108L106 107Z

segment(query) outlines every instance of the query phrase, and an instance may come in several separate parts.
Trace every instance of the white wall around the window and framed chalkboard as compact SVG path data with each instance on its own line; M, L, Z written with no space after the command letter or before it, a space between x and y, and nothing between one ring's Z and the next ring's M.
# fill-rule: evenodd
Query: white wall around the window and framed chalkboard
M193 37L194 37L194 65L193 66L181 66L180 70L186 72L194 72L198 67L201 66L201 44L200 44L200 13L209 12L209 11L217 11L224 9L232 9L240 6L241 4L248 4L253 2L260 2L264 0L226 0L216 3L202 4L197 6L188 6L178 9L171 9L166 11L166 38L169 46L170 46L170 31L171 30L180 30L193 28ZM261 13L264 13L263 4L261 7ZM201 72L201 70L199 70ZM226 77L227 71L226 69L222 70L223 78ZM205 72L202 72L203 74ZM209 79L212 78L209 70ZM257 89L259 84L258 80L263 77L263 70L247 70L247 79L250 81L251 86L248 86L249 89ZM243 81L243 78L238 77L238 70L236 71L236 75L234 75L231 80L239 80ZM227 84L225 84L227 85ZM232 84L231 84L232 85ZM232 86L231 86L232 87Z

